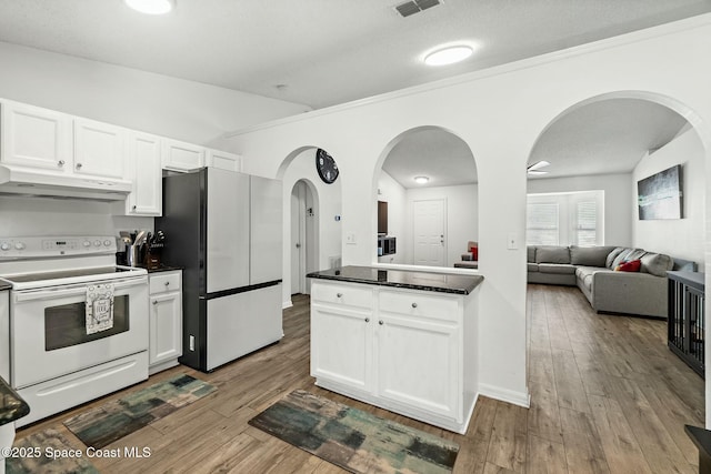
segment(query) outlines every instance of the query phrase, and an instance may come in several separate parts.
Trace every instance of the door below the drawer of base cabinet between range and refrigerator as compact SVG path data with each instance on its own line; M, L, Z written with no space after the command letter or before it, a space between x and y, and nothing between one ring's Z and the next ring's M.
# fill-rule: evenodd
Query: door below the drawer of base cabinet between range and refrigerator
M182 295L151 296L149 364L182 355Z

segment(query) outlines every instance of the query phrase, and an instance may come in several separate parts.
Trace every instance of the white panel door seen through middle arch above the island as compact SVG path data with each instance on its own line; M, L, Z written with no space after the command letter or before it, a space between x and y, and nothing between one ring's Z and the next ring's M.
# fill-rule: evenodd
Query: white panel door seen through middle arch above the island
M415 265L447 265L445 215L447 201L443 199L413 202L413 263Z

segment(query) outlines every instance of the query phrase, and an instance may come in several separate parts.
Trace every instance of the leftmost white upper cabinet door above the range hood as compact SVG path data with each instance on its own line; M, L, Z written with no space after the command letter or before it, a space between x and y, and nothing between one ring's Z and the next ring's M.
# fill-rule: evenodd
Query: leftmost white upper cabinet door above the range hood
M2 103L2 162L71 171L71 118L38 107Z

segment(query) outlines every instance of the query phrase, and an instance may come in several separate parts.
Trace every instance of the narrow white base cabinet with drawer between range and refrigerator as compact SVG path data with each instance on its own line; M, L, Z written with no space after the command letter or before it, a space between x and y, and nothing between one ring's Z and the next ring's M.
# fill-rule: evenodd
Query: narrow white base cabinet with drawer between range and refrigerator
M182 271L150 273L149 374L178 365L182 355Z

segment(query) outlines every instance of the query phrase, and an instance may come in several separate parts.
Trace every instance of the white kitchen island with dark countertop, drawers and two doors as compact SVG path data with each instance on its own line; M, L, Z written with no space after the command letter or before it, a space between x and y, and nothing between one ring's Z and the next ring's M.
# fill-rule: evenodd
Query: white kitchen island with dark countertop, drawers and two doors
M465 433L481 275L343 266L309 273L317 385Z

